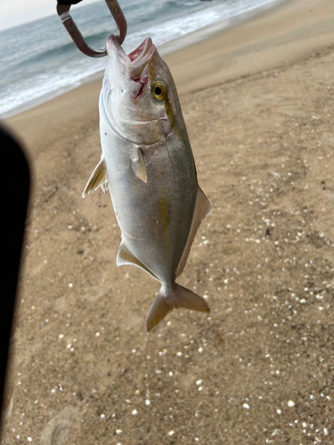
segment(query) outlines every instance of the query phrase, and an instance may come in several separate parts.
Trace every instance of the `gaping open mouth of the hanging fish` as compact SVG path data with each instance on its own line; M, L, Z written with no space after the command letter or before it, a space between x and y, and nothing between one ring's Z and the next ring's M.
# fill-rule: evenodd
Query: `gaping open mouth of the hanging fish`
M151 61L155 49L151 37L145 38L143 43L129 54L126 54L122 46L118 43L117 36L111 34L107 41L108 55L111 56L111 59L113 59L113 56L118 56L118 61L121 61L127 74L133 79L139 79L143 77L143 74L147 75L147 73L143 73L143 71L146 71L145 68Z

